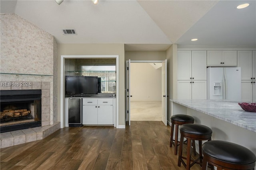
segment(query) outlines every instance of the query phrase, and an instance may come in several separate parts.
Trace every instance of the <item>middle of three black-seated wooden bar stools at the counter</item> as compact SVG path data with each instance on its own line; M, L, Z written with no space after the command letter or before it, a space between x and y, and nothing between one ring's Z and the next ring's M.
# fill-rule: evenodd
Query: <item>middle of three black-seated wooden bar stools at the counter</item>
M187 156L182 156L182 143L184 141L184 137L188 140L187 141ZM191 141L197 140L199 144L199 157L196 160L191 161L190 156L190 148L191 148ZM178 157L178 166L180 163L185 166L186 170L190 170L190 167L194 164L202 164L203 156L202 156L202 141L211 141L212 140L212 129L205 125L198 125L198 124L184 124L180 126L180 150L179 150L179 157ZM186 159L186 163L183 159ZM198 162L199 160L199 162ZM190 164L190 162L192 162Z

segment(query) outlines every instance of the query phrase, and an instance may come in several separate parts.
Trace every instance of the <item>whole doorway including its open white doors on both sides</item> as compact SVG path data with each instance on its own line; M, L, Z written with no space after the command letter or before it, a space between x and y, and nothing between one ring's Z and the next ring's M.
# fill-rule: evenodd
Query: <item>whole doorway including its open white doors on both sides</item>
M126 121L129 125L131 120L167 125L166 60L129 60L126 66Z

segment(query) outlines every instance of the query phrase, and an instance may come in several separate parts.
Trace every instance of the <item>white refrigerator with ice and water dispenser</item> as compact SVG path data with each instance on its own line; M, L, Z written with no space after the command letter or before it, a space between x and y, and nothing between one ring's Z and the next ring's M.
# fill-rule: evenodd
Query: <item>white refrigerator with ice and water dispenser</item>
M207 99L241 101L241 68L208 67Z

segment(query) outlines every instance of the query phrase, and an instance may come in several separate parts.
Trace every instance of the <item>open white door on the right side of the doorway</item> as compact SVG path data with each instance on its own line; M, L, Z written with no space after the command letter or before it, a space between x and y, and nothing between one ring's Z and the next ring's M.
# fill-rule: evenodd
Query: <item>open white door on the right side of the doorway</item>
M167 60L162 62L162 122L167 125Z

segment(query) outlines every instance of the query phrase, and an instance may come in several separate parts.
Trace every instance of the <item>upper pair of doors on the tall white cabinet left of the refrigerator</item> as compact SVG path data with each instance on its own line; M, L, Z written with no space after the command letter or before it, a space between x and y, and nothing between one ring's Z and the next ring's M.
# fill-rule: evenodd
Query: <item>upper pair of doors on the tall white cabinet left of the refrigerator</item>
M206 51L178 51L177 80L206 79Z

